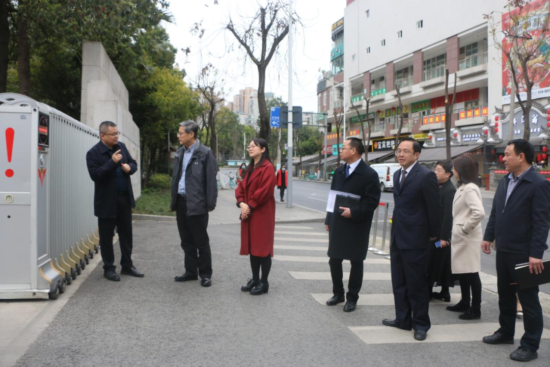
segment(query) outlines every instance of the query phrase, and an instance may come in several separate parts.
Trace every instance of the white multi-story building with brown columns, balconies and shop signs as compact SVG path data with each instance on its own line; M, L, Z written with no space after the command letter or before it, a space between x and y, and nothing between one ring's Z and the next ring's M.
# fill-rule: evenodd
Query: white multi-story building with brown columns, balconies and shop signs
M491 163L498 163L498 155L509 140L510 98L509 86L503 86L503 80L507 83L506 63L492 35L492 24L496 24L497 32L501 31L498 27L505 22L500 17L505 19L507 15L498 13L496 22L491 23L483 14L502 10L507 1L463 0L444 5L437 0L390 2L395 6L346 0L344 18L332 25L331 71L324 73L317 85L318 112L327 112L328 122L333 124L344 114L341 134L345 137L362 138L360 121L368 118L368 160L384 160L392 156L398 133L399 94L404 112L401 135L423 142L421 162L444 160L448 69L449 96L456 83L451 114L452 156L469 154L479 173L487 173ZM535 0L529 11L533 19L539 19L545 11L548 14L548 7L547 1ZM342 37L343 44L339 41ZM544 50L541 52L546 54L548 46ZM541 138L546 138L548 132L543 106L548 105L550 77L542 79L536 96L533 92L533 100L537 99L529 117L536 149L544 144ZM515 107L517 128L513 138L521 138L522 124L518 122L522 112L518 103ZM493 114L501 109L504 118L497 122ZM333 127L327 135L328 154L337 154L335 135Z

